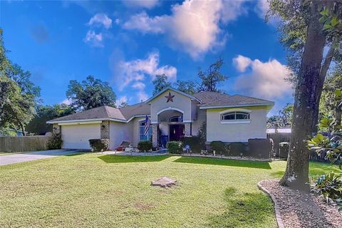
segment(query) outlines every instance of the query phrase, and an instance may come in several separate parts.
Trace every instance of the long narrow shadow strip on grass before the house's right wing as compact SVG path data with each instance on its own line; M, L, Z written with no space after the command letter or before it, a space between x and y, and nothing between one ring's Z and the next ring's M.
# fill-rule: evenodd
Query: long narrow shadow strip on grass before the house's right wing
M250 167L271 170L269 162L228 160L212 157L180 157L174 162L204 164L204 165L226 165L235 167Z

